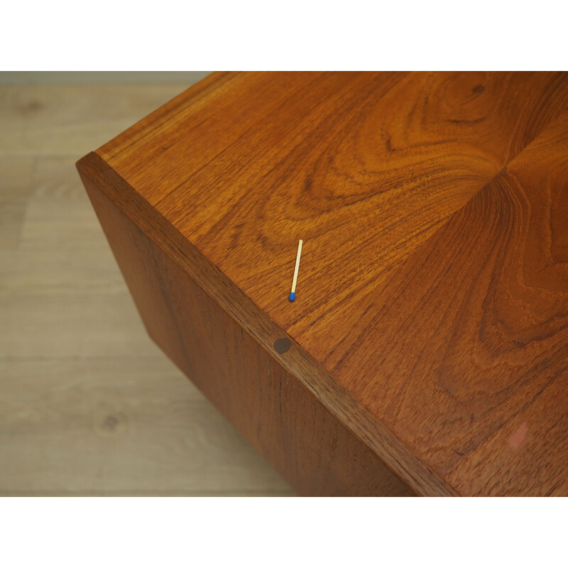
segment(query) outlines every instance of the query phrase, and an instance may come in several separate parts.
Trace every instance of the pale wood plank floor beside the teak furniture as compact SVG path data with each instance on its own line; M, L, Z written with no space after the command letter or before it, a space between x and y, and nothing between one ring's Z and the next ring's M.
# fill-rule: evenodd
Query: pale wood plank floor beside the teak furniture
M0 495L294 494L148 338L75 170L186 87L0 88Z

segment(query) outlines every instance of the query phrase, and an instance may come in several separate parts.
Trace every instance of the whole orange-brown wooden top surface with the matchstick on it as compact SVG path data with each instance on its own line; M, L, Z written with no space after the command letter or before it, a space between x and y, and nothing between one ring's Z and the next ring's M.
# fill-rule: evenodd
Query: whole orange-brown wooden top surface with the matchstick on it
M552 72L217 73L97 153L455 491L565 495L567 111Z

